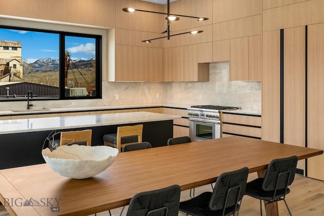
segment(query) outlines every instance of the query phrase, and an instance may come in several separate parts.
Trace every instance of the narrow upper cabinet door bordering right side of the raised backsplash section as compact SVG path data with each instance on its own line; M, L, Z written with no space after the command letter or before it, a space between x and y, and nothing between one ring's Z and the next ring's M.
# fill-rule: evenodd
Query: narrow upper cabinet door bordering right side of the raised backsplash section
M249 80L249 37L230 40L229 79Z

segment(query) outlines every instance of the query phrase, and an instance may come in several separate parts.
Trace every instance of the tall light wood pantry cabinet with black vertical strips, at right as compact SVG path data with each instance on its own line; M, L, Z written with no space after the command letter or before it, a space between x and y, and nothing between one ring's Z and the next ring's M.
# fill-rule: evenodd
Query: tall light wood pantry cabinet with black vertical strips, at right
M323 50L324 24L263 33L263 140L324 148ZM324 180L323 155L297 168Z

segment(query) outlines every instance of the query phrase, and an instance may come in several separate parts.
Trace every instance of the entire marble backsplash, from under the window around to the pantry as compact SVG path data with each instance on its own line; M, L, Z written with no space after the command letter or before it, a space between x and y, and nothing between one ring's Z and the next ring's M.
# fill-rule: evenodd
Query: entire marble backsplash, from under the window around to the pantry
M102 99L95 100L32 101L32 109L156 103L261 109L261 81L229 81L228 62L210 64L209 82L103 82L102 92ZM0 110L24 109L26 104L2 102Z

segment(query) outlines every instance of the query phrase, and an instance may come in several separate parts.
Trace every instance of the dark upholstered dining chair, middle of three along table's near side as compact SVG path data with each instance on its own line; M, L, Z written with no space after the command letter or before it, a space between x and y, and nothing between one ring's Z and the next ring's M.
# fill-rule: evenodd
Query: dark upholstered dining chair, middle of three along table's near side
M180 202L180 211L193 216L238 215L248 175L248 167L224 172L217 178L213 192Z

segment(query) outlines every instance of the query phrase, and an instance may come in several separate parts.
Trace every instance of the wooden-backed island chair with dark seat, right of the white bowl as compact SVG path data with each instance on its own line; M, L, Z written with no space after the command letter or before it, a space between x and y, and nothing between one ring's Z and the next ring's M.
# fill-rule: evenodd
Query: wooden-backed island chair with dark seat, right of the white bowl
M103 136L105 146L111 146L121 152L126 144L141 143L143 134L143 124L117 127L116 134L106 134Z

